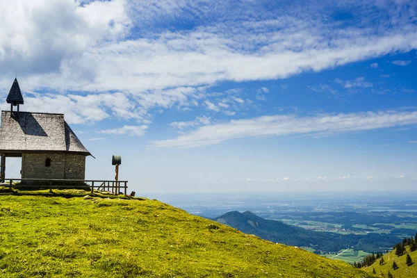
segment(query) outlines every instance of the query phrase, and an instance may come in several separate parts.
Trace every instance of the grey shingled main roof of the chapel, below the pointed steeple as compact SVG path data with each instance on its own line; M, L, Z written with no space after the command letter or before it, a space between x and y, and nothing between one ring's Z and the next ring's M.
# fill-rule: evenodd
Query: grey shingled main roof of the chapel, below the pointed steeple
M69 152L90 156L64 114L1 111L0 152Z

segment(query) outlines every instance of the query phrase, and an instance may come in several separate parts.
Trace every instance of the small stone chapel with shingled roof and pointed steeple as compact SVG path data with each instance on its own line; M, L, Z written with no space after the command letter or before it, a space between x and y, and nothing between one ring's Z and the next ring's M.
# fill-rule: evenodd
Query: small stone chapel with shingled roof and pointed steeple
M2 182L6 157L22 157L22 179L85 179L85 158L91 154L63 114L19 111L24 99L17 79L6 101L10 111L1 111L0 127Z

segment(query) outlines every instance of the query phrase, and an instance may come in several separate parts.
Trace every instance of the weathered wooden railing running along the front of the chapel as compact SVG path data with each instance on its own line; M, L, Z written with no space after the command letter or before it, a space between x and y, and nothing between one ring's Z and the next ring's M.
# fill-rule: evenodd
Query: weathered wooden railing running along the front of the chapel
M88 187L91 189L91 193L94 192L94 188L97 188L97 190L104 191L107 189L107 191L110 191L111 193L114 193L115 195L120 193L120 189L124 189L124 195L127 195L127 181L101 181L97 179L4 179L5 181L8 181L10 188L13 186L13 181L29 181L29 182L39 182L44 183L42 186L45 188L49 188L51 190L52 188L68 188L71 186L71 183L85 183ZM61 185L57 183L63 183ZM24 187L40 187L40 184L37 185L31 185L31 184L22 184ZM75 187L75 186L74 186Z

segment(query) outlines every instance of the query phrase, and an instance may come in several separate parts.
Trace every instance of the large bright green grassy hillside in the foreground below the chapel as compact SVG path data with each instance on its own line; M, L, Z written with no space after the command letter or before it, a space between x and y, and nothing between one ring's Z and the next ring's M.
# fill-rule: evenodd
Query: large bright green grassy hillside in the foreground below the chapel
M57 193L0 195L0 277L373 277L156 200Z

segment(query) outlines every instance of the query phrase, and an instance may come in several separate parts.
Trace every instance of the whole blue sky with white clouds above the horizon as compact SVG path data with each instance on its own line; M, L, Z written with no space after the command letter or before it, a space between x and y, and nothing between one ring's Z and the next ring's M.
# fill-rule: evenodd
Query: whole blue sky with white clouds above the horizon
M0 26L1 96L65 113L88 179L120 154L146 193L417 186L415 1L0 0Z

